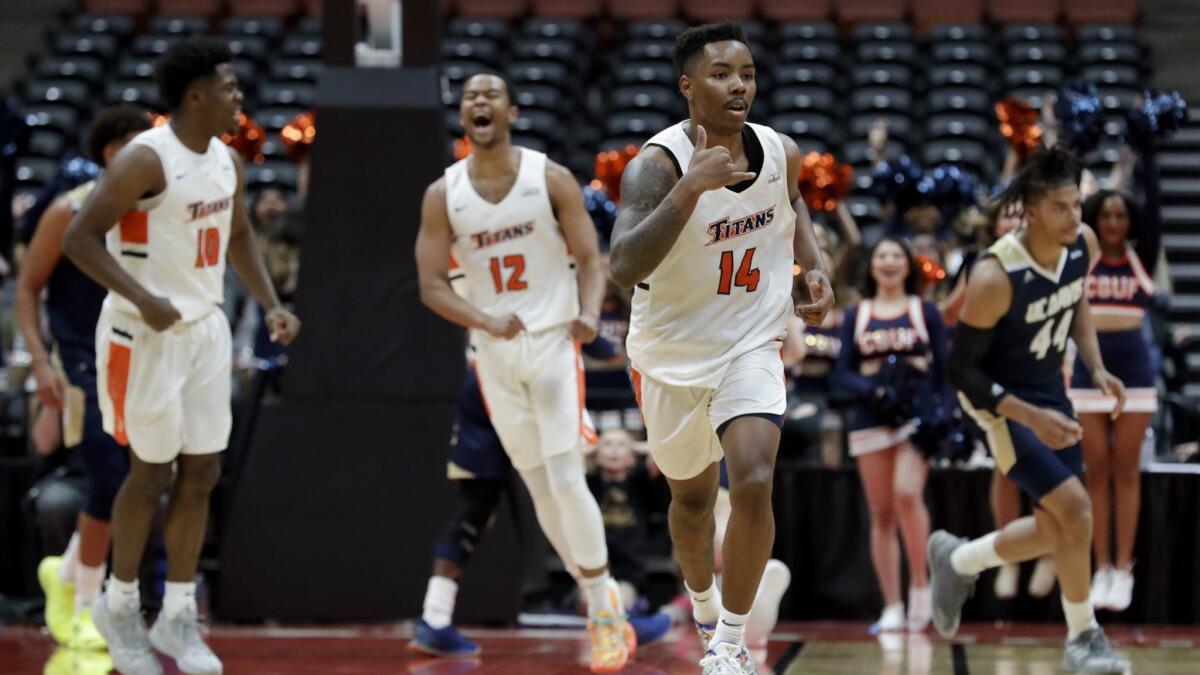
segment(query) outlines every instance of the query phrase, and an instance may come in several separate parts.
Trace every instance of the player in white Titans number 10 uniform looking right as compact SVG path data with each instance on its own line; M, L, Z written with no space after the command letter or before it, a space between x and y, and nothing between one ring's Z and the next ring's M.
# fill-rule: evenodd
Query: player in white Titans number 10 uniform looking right
M258 253L241 161L217 138L236 127L242 100L232 61L206 38L163 54L155 79L169 124L114 157L64 240L64 253L109 289L96 327L97 389L104 430L132 456L113 508L112 575L92 616L126 675L162 671L151 645L184 673L222 670L197 629L194 577L229 440L226 256L266 307L274 340L288 344L300 328ZM148 634L138 563L168 489L166 595Z

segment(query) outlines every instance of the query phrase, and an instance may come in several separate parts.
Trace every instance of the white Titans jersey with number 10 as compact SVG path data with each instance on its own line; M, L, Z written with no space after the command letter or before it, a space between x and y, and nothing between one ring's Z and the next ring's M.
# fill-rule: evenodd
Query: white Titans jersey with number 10
M166 124L130 144L158 155L167 189L138 202L108 231L108 252L146 291L170 300L184 322L208 316L224 299L226 249L238 169L217 138L198 155ZM109 292L107 305L131 316L137 306Z

